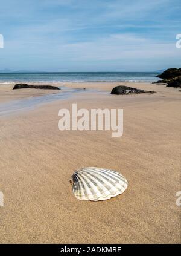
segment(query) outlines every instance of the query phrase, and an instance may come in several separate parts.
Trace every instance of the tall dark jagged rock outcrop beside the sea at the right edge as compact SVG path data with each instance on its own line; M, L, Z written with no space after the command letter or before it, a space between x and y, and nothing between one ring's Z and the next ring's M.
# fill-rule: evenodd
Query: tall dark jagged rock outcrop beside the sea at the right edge
M166 87L181 88L181 68L168 68L157 77L162 78L162 80L153 84L167 84Z

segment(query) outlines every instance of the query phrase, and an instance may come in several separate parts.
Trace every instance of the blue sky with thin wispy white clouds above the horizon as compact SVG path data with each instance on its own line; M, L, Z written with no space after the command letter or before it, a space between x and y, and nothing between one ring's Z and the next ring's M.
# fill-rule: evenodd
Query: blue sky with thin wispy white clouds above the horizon
M154 71L181 67L180 0L6 0L0 69Z

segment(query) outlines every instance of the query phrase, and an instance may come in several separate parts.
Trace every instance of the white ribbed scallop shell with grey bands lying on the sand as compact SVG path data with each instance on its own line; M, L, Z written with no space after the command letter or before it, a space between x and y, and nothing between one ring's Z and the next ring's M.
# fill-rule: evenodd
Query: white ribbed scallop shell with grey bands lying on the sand
M86 167L74 172L71 184L77 199L99 201L122 194L128 182L119 172Z

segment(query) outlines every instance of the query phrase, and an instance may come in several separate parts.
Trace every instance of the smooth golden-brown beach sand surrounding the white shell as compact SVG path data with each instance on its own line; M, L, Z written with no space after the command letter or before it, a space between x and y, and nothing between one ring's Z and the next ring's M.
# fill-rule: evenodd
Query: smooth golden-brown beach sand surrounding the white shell
M181 93L164 85L132 84L157 93L109 94L116 84L68 83L99 91L85 90L1 117L0 243L180 243ZM11 85L0 90L0 102L48 93L11 91ZM123 136L59 131L57 113L71 103L87 109L123 108ZM129 187L110 200L79 201L69 179L82 166L120 171Z

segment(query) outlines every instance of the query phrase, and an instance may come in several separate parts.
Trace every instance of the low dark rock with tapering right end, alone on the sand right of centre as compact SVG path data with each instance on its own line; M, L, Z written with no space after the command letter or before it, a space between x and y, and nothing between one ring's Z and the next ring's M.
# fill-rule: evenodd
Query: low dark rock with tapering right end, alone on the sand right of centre
M155 93L155 91L145 91L125 85L118 85L112 89L111 94L130 94L130 93Z

